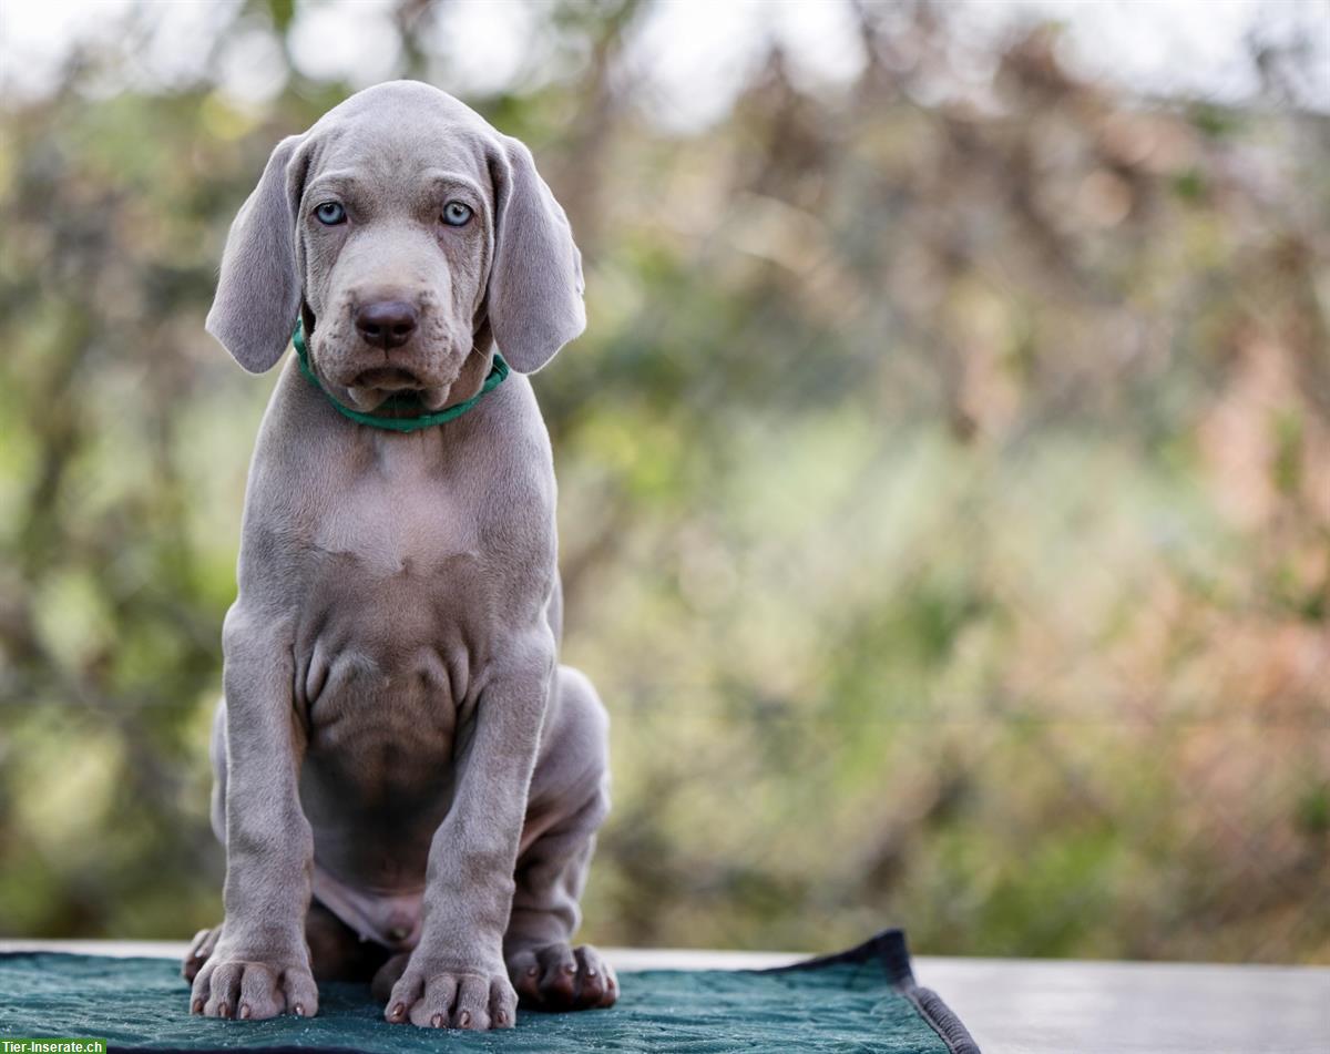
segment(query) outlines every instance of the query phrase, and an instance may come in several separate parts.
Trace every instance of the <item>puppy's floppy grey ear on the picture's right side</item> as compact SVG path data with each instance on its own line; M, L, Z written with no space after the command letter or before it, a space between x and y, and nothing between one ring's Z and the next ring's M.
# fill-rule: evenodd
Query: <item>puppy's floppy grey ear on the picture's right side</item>
M581 253L568 217L536 172L531 150L508 136L492 158L495 256L489 325L519 373L535 373L587 327Z

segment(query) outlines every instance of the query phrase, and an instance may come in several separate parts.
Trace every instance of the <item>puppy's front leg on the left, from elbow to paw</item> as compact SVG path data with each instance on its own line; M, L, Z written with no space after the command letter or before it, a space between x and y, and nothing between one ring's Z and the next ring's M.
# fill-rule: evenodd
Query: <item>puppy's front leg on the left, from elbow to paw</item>
M290 648L238 607L226 616L226 917L194 975L190 1010L269 1018L318 1013L305 916L314 837L298 777L305 725Z

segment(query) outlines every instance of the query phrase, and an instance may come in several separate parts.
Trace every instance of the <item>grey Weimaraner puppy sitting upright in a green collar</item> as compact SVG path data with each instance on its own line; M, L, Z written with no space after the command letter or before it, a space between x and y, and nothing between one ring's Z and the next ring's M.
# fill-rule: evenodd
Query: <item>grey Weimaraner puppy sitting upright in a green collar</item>
M606 717L557 665L525 378L581 333L581 291L529 150L419 83L283 140L237 216L207 330L253 373L298 321L307 354L245 499L211 747L225 920L185 962L193 1013L313 1015L315 978L432 1027L614 1002L571 946Z

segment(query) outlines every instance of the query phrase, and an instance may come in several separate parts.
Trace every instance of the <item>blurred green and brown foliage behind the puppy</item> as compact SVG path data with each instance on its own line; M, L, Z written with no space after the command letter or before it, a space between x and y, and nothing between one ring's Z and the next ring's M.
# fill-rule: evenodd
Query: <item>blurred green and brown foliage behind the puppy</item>
M577 61L468 100L587 260L536 381L613 716L587 936L1330 961L1326 117L1128 98L1047 28L986 105L922 101L947 20L861 5L854 84L773 49L665 132L616 65L649 7L535 8ZM407 72L448 87L428 17ZM4 114L0 934L184 938L271 389L202 318L348 88L105 84Z

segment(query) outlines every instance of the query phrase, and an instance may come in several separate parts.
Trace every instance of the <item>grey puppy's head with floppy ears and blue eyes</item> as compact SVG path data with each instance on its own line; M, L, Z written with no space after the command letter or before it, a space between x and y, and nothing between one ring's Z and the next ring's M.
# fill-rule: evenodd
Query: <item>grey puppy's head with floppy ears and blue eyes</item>
M311 366L370 411L426 409L491 339L533 373L581 333L581 256L531 152L458 100L394 81L278 144L231 225L211 333L247 370L303 317Z

